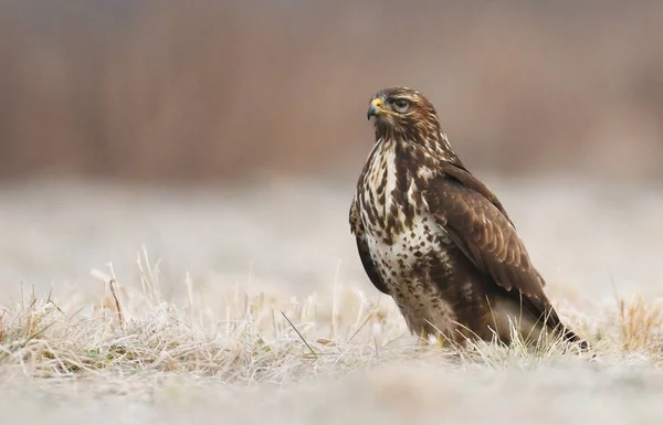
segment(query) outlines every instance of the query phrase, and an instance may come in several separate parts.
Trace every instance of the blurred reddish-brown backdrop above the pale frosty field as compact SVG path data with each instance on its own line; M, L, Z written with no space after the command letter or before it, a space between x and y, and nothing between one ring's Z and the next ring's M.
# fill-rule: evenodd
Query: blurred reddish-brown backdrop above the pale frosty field
M0 177L358 173L388 85L474 169L663 177L656 1L4 0Z

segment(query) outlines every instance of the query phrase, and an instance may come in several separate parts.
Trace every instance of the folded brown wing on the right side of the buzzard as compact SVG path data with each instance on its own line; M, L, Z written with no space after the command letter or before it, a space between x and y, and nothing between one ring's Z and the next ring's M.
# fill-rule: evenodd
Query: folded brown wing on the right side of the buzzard
M559 322L523 241L497 198L470 172L444 166L424 199L438 224L470 261L534 314ZM513 290L516 289L516 290Z

